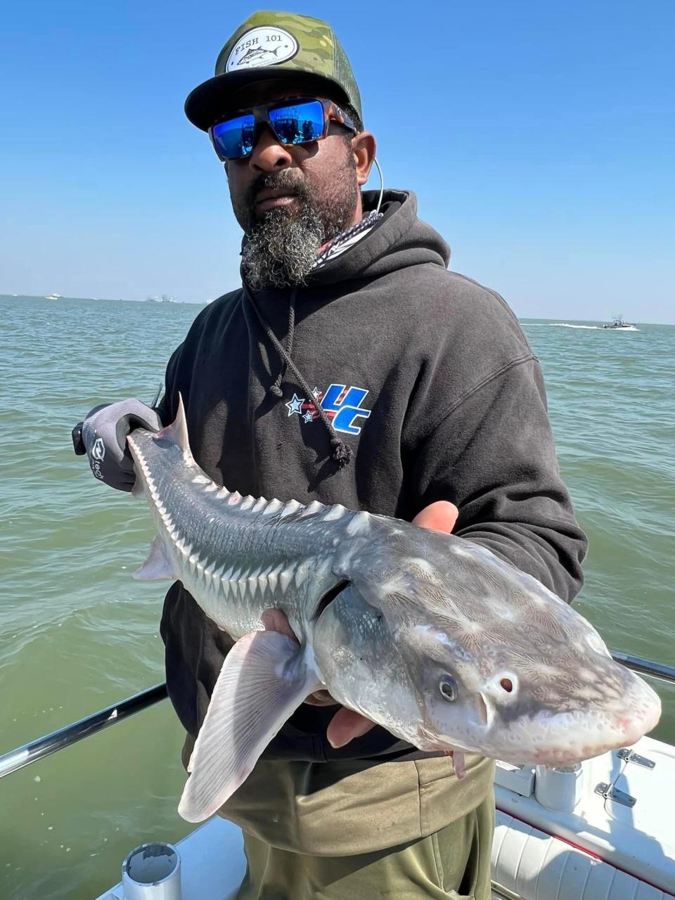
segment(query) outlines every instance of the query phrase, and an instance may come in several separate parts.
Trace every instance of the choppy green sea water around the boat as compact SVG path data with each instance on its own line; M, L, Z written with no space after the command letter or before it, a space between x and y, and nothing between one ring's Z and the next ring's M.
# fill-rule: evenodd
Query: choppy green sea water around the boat
M0 296L0 752L164 680L164 585L132 581L143 506L105 489L70 429L149 402L200 307ZM675 328L524 323L563 477L590 536L580 611L609 646L675 663ZM675 690L655 736L675 742ZM0 781L0 896L89 900L189 826L167 702Z

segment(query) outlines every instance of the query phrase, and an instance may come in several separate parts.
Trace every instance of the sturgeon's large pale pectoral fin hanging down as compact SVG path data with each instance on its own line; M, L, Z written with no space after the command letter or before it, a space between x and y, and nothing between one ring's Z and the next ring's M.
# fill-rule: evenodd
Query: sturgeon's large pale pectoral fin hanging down
M241 785L258 757L314 690L316 673L286 635L257 631L230 650L194 744L178 812L202 822Z

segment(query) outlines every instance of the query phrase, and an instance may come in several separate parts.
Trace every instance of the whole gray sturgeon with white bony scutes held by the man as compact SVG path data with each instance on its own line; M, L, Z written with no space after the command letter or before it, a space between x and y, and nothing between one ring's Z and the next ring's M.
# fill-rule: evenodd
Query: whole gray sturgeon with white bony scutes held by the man
M228 491L194 461L182 401L172 425L128 441L157 526L137 577L182 581L238 639L188 767L188 821L224 803L318 689L422 751L517 764L589 759L658 722L658 695L595 628L484 547ZM264 630L268 608L284 611L298 643Z

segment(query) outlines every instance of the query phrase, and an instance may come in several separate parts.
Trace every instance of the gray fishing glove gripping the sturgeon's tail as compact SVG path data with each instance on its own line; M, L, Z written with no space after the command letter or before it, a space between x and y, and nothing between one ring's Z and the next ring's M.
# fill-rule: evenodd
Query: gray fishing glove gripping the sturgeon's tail
M86 454L94 476L117 491L131 491L136 482L127 446L127 435L134 428L162 428L157 412L134 398L95 406L73 428L76 454Z

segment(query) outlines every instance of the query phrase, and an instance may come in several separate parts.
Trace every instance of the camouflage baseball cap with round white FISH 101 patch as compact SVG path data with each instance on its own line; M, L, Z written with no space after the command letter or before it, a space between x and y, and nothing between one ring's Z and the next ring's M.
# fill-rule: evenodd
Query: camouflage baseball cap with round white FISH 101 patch
M185 115L205 131L227 115L230 98L241 87L298 76L307 76L308 87L328 84L330 99L350 103L363 120L352 67L330 25L308 15L265 12L239 25L220 50L215 76L188 96Z

